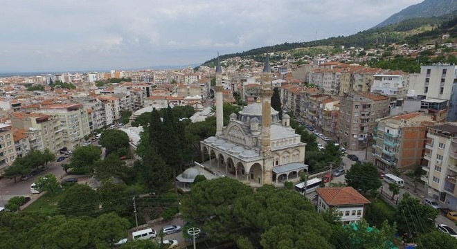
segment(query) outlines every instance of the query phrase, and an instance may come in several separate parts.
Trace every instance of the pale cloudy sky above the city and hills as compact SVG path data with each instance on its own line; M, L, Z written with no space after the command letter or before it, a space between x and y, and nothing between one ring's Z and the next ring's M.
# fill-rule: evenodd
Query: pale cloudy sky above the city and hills
M201 64L367 30L422 0L3 1L0 72Z

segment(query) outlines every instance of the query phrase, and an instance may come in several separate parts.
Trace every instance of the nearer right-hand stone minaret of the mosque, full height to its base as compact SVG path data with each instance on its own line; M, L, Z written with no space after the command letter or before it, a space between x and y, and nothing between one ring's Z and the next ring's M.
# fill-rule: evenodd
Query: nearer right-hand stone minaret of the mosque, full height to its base
M270 60L267 54L262 72L262 89L260 90L260 98L262 99L262 156L263 156L263 184L271 184L273 176L273 155L271 154L270 145L270 126L271 126L271 68Z

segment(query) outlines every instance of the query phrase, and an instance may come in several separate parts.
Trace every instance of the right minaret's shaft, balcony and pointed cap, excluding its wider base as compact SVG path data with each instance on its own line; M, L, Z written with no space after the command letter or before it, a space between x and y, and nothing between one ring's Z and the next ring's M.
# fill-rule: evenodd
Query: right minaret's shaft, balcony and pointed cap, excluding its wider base
M262 99L262 153L265 156L271 155L270 147L270 126L271 126L271 68L270 60L267 54L262 72L262 89L260 98Z

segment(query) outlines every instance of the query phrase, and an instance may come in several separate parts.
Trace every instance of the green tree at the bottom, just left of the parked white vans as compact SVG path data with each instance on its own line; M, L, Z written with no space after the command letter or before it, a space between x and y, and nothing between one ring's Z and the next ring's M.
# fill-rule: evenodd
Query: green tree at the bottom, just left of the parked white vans
M111 212L109 214L102 214L94 219L91 223L91 230L93 231L93 240L97 248L102 248L109 244L112 248L113 243L120 239L127 238L127 229L129 229L129 221L121 218L118 214Z

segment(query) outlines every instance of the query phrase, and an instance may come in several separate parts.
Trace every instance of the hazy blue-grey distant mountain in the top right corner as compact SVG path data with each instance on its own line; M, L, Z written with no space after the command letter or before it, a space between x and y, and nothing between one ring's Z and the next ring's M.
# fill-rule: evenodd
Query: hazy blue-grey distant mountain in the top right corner
M395 13L388 19L382 21L373 28L381 28L390 24L397 24L401 21L420 17L440 17L457 10L457 0L424 0L400 12Z

